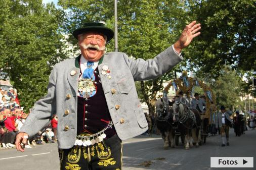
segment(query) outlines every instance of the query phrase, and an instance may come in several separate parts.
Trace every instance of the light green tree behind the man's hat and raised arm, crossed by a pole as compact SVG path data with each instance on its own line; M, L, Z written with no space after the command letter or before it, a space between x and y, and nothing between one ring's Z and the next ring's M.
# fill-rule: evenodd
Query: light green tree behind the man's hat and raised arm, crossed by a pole
M58 5L70 10L70 18L66 24L69 33L85 21L106 21L110 28L114 26L113 1L60 0ZM178 39L186 25L184 13L181 1L118 1L119 51L136 59L152 59ZM113 47L113 41L107 45L108 50L113 50ZM183 66L185 65L183 62ZM176 67L178 69L181 68ZM155 80L141 82L142 101L147 103L150 114L154 112L156 93L162 90L163 80L172 76L172 73L167 73Z

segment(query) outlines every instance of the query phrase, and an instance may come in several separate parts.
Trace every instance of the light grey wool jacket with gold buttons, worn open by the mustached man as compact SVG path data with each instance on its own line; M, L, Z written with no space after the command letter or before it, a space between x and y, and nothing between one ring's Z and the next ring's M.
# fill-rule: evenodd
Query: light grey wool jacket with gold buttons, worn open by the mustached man
M49 124L52 115L57 114L58 147L73 147L77 128L78 59L55 65L49 78L48 94L35 103L20 132L33 136ZM122 52L103 55L98 65L100 80L113 125L121 140L140 135L148 129L135 81L155 79L182 60L172 46L147 61L133 60ZM101 74L103 66L108 66L111 79ZM113 89L116 91L114 94L111 93ZM119 105L119 109L115 105Z

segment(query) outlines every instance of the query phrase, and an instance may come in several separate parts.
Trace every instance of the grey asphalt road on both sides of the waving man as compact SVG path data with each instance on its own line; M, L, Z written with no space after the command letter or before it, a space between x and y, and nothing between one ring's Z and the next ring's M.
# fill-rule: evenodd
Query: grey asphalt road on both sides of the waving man
M245 131L245 135L235 137L230 133L230 146L221 147L220 136L208 137L206 144L199 148L185 150L183 146L163 150L160 136L140 135L123 141L123 170L143 169L214 169L210 168L211 156L254 157L256 159L256 130ZM24 153L15 149L0 150L0 169L2 170L42 170L59 169L57 144L37 145ZM231 169L231 168L218 168ZM252 168L237 168L252 169Z

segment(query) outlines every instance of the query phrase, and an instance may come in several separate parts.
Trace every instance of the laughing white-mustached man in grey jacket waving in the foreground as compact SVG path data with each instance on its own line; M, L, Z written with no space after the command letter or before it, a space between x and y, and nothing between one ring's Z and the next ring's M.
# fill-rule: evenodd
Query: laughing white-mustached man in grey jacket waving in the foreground
M76 29L81 54L54 67L48 94L35 103L16 137L17 150L24 151L21 142L57 113L61 169L121 169L121 140L148 129L134 80L154 79L172 69L200 28L193 21L174 45L147 61L122 52L104 54L114 32L102 23Z

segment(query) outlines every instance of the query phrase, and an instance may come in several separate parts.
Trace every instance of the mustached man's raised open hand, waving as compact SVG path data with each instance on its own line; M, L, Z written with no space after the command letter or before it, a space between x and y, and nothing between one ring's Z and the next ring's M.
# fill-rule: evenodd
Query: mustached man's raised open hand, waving
M186 25L179 40L174 44L174 48L177 52L180 53L183 48L187 47L190 44L193 38L200 35L200 32L198 32L201 29L200 25L200 23L196 24L196 21L193 21L189 25Z

